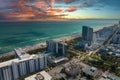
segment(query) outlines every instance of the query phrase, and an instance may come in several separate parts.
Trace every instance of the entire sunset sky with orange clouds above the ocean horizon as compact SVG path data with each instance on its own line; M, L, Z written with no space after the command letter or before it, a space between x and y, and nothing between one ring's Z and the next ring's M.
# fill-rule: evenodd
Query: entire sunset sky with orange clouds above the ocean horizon
M120 0L0 0L0 20L120 19Z

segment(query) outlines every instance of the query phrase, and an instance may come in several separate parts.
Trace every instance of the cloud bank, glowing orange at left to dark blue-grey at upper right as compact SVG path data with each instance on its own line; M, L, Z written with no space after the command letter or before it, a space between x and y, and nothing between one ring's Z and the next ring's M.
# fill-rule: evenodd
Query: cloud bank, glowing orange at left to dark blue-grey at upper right
M115 2L116 1L116 2ZM120 3L119 0L0 0L1 19L62 18L80 9ZM113 3L113 4L112 4Z

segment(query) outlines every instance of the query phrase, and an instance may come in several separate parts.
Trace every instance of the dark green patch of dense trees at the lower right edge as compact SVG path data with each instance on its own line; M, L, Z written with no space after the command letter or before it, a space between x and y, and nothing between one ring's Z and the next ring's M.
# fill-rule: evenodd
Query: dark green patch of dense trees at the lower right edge
M92 60L88 60L87 64L120 76L120 58L113 57L112 55L100 54L94 54L91 58Z

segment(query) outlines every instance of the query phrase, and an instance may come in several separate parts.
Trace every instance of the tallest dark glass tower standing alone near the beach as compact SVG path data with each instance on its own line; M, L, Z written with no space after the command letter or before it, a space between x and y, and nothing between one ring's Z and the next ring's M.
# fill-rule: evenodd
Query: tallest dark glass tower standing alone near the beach
M82 39L91 45L93 42L93 28L83 26L82 28Z

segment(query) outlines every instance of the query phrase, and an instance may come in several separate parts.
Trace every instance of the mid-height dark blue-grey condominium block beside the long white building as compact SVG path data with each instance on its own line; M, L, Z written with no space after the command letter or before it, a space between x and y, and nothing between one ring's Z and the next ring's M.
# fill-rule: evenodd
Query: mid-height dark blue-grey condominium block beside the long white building
M67 48L67 45L65 43L54 41L54 40L49 40L49 41L46 41L46 44L47 44L48 52L53 52L60 56L65 55L66 48Z

